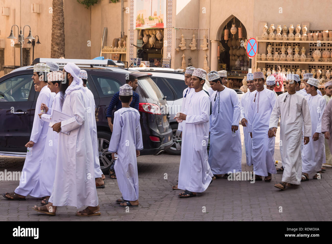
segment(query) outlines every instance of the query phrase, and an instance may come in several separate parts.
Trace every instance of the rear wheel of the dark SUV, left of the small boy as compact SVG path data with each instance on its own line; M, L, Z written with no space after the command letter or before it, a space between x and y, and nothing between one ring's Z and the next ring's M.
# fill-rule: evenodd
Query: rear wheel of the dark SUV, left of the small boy
M109 169L114 161L112 159L112 153L108 151L108 147L110 146L110 139L112 133L106 131L98 131L98 156L100 169L103 171L103 174L108 174Z

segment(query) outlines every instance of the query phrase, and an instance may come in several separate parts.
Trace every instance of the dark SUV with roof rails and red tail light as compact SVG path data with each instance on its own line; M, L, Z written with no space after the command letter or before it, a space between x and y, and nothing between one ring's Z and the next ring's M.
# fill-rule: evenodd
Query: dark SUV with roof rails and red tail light
M58 59L35 59L34 63ZM60 59L60 68L66 59ZM60 62L58 61L58 63ZM104 60L103 60L104 61ZM107 173L112 156L108 152L112 132L106 118L107 108L113 95L125 84L125 78L130 73L137 77L139 94L139 113L142 129L144 149L141 155L158 155L172 145L172 129L169 125L169 115L160 111L160 107L167 107L158 86L145 72L128 71L123 68L97 66L100 60L70 60L88 73L87 87L92 91L96 104L96 123L99 147L100 166ZM90 65L87 63L91 62ZM107 60L105 61L107 63ZM83 63L82 65L80 63ZM103 63L103 62L101 62ZM38 92L35 92L32 81L33 66L14 70L0 78L0 155L25 156L25 143L30 140L35 106ZM4 97L3 99L1 99ZM155 109L159 113L151 113ZM37 108L38 110L38 108Z

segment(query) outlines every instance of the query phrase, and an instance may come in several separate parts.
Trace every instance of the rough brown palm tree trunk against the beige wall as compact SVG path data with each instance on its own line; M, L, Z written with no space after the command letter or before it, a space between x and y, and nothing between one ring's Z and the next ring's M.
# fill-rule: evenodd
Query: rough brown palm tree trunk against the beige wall
M63 0L53 0L51 58L65 57Z

